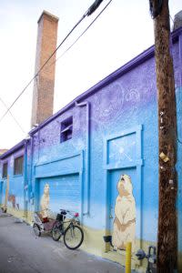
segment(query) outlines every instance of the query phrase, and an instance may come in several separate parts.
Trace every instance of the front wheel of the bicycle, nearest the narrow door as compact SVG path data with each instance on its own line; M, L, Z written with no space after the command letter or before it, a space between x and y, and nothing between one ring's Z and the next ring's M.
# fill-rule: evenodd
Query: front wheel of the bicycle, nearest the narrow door
M84 232L81 227L70 225L64 233L64 243L66 248L79 248L84 240Z

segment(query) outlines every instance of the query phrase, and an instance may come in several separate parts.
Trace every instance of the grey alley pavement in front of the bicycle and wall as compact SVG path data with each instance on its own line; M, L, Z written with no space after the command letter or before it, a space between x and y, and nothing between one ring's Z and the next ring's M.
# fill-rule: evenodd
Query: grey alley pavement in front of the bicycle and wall
M50 236L35 237L33 228L0 213L0 273L122 273L117 263L76 249Z

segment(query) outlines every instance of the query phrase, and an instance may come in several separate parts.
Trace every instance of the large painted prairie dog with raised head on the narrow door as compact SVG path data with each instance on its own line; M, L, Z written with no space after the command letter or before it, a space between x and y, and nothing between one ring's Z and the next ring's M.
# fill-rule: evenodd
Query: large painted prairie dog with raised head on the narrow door
M122 175L117 183L119 195L116 197L115 220L113 227L113 246L126 249L126 242L135 248L136 202L133 196L131 178Z

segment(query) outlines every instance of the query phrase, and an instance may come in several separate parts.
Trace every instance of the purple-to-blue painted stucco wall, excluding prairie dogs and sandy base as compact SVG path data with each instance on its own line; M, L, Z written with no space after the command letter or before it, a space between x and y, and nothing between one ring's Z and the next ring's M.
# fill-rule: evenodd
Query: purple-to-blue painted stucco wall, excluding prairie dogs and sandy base
M182 53L173 45L177 90L178 138L181 132ZM32 133L27 150L28 209L38 209L44 185L49 182L51 207L57 210L71 198L81 212L82 222L95 229L112 229L116 183L120 174L132 177L136 198L136 237L157 241L158 147L157 87L154 56L107 85L79 98L86 106L71 106L46 126ZM90 111L88 111L88 104ZM87 117L89 115L89 123ZM73 116L73 137L60 143L60 124ZM89 130L89 136L87 135ZM181 143L178 142L178 219L181 238ZM89 163L89 164L87 164ZM88 172L89 165L89 172ZM11 176L11 169L10 169ZM12 176L12 193L21 199L22 177ZM70 183L70 184L69 184ZM17 186L18 185L18 186ZM68 185L66 187L66 185ZM66 192L67 190L67 192ZM65 194L64 194L65 192ZM64 195L64 196L63 196ZM23 196L22 196L23 197ZM22 206L22 205L21 205ZM179 239L180 239L179 238ZM179 242L179 249L182 250Z

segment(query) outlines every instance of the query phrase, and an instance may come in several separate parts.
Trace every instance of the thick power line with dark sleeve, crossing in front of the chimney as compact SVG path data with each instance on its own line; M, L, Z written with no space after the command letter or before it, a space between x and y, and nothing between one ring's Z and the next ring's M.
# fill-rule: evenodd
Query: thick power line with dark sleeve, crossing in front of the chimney
M69 31L69 33L66 35L66 37L63 39L63 41L56 47L56 50L51 54L51 56L48 57L48 59L45 61L45 64L43 66L40 67L40 69L36 72L35 76L33 76L33 78L28 82L28 84L25 86L25 88L20 92L20 94L15 98L15 101L11 104L11 106L9 106L7 108L7 110L5 111L5 114L1 117L0 122L3 120L3 118L6 116L6 114L9 112L9 110L15 105L15 102L19 99L20 96L22 96L26 90L26 88L28 86L30 86L30 84L34 81L35 77L39 75L39 73L43 70L43 68L46 66L46 64L49 62L49 60L56 54L56 51L59 49L59 47L61 45L63 45L66 41L66 39L68 38L69 35L72 34L72 32L76 29L76 26L79 25L86 16L92 15L96 8L103 2L103 0L96 0L94 2L93 5L91 5L86 13L78 20L78 22L76 23L76 25L74 25L74 27Z

